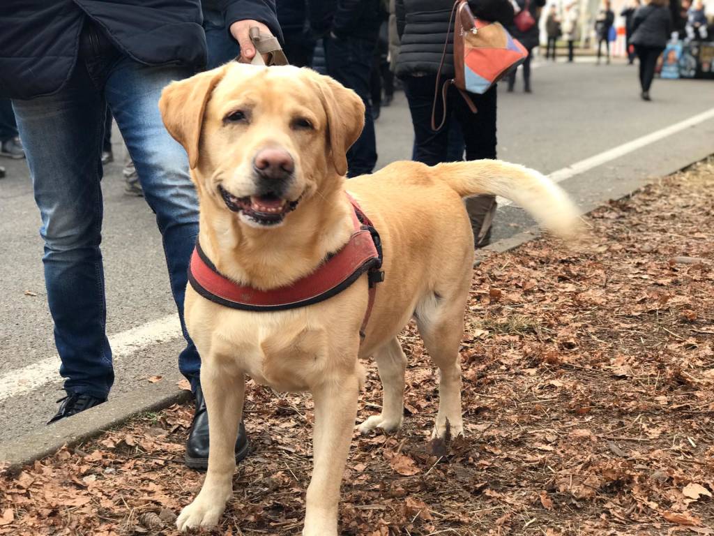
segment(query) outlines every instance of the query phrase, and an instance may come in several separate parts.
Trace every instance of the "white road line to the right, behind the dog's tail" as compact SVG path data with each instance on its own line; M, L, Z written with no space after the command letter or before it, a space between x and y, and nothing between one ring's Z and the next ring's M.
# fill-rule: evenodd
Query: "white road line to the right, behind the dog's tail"
M643 137L633 139L631 142L618 145L618 147L613 147L612 149L608 149L607 151L601 152L600 154L595 154L594 157L586 158L585 160L575 162L575 164L572 164L568 167L564 167L563 169L558 169L557 172L551 173L550 175L548 175L548 177L553 182L563 182L572 177L575 177L575 175L580 175L585 172L588 172L590 171L590 169L601 166L603 164L607 164L608 162L612 162L615 159L625 156L625 154L636 151L637 149L642 149L643 147L646 147L649 144L653 144L654 142L660 141L660 139L664 139L668 136L671 136L672 134L677 134L678 132L690 128L690 126L695 126L697 124L703 123L707 119L712 118L714 118L714 108L711 108L708 111L704 111L701 114L692 116L689 119L685 119L684 121L680 121L670 126L665 126L665 128L663 129L650 132L650 134L646 134ZM508 207L508 205L510 204L513 204L511 200L504 199L503 197L498 197L499 207Z

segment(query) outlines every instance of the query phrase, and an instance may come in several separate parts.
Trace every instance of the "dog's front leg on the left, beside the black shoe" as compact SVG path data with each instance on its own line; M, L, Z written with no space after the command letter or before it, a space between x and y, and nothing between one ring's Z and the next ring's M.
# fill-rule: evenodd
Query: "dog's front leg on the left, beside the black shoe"
M243 413L246 380L243 374L230 374L206 359L201 366L201 388L208 410L208 472L201 492L181 511L178 530L216 525L233 493L236 470L236 437Z

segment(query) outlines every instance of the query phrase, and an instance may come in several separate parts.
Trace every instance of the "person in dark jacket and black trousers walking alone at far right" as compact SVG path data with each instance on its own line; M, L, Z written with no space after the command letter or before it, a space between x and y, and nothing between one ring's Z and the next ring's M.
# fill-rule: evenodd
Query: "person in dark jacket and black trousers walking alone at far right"
M667 46L673 28L669 0L649 0L635 11L632 26L631 41L640 59L640 96L649 101L657 59Z

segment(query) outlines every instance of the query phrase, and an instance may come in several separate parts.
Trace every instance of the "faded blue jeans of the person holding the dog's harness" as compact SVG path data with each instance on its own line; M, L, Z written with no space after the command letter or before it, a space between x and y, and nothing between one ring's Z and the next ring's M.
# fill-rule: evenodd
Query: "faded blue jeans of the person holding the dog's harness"
M193 73L181 66L139 64L106 38L100 46L96 41L88 46L85 38L61 91L13 102L42 220L45 283L64 388L68 394L105 398L114 382L99 249L106 106L156 213L187 342L178 367L195 386L201 360L183 324L183 294L198 235L198 200L186 152L164 129L156 105L166 84Z

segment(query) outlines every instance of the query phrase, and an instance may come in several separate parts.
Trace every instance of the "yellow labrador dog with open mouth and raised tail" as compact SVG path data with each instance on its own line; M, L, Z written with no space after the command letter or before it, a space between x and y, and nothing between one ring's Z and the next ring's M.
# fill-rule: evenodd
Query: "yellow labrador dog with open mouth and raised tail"
M463 433L458 349L473 269L463 197L508 197L562 235L577 227L575 208L543 175L496 160L397 162L346 182L346 152L363 127L364 106L309 69L226 64L172 83L159 106L188 152L201 203L199 242L227 278L266 290L311 274L353 233L345 190L381 234L385 277L363 339L366 274L325 301L273 312L223 307L186 289L211 450L203 488L178 528L216 524L231 497L247 374L275 389L312 392L314 467L303 535L336 535L364 374L359 359L376 359L384 386L381 414L359 430L397 430L406 368L397 334L412 318L441 372L433 434Z

